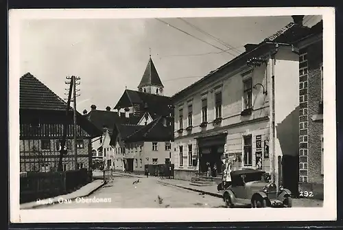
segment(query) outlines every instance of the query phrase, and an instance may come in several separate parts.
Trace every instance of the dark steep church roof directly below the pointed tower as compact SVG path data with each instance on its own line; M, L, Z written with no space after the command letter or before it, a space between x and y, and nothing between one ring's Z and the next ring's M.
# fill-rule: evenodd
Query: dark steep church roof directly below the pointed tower
M154 117L155 114L169 115L170 110L168 106L171 106L172 102L170 97L126 89L115 106L115 109L125 108L127 106L132 106L133 104L140 105L141 115L148 112Z

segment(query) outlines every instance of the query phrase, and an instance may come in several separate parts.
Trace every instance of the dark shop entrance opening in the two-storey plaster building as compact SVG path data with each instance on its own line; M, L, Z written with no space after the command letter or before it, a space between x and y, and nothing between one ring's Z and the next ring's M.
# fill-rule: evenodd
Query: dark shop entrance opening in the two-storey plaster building
M198 139L199 145L199 171L206 174L210 169L211 176L222 173L222 154L224 154L224 144L226 134Z

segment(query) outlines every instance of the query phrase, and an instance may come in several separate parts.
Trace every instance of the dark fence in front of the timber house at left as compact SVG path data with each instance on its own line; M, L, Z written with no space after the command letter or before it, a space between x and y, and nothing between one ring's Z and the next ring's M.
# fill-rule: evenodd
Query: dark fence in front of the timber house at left
M20 203L67 194L91 180L92 172L86 169L21 173Z

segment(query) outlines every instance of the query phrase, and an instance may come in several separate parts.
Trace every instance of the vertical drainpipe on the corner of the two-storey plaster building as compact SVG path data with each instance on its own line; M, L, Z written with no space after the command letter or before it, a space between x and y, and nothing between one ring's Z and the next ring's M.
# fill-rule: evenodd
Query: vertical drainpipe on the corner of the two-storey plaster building
M272 182L279 187L279 179L276 175L276 154L275 154L275 55L278 52L279 45L276 43L275 49L270 54L272 64Z

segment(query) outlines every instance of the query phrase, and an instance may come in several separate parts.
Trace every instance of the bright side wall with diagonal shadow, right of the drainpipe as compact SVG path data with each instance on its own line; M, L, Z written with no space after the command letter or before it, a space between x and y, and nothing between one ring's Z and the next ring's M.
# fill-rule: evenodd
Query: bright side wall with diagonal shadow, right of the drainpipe
M298 156L299 117L299 65L298 54L291 49L281 48L274 62L275 100L275 174L282 181L281 157ZM272 60L270 60L272 65ZM272 92L270 91L270 100ZM272 114L271 114L272 115ZM272 137L270 137L272 140ZM294 158L297 159L297 158ZM273 164L273 161L271 162ZM298 163L296 163L298 165ZM285 172L287 173L287 172Z

